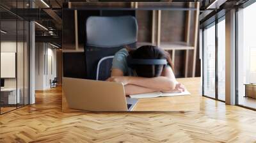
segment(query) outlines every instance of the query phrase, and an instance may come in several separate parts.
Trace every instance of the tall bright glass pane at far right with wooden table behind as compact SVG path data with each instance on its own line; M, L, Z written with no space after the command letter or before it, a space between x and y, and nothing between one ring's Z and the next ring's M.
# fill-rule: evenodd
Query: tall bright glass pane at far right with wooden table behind
M238 11L238 103L256 109L256 3ZM249 84L245 86L244 84Z

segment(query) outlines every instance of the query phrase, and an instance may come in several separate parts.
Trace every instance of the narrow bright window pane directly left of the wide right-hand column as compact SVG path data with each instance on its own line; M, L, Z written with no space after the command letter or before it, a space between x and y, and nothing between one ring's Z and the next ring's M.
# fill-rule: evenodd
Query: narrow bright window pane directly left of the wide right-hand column
M218 99L225 101L225 20L218 23Z

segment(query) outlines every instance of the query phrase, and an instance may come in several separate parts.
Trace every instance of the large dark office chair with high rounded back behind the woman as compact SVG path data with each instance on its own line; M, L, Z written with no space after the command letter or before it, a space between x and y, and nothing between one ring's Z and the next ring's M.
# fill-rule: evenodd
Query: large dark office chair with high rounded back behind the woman
M103 57L115 55L125 45L135 49L137 36L138 24L132 16L89 17L86 20L84 45L87 79L96 79L97 65Z

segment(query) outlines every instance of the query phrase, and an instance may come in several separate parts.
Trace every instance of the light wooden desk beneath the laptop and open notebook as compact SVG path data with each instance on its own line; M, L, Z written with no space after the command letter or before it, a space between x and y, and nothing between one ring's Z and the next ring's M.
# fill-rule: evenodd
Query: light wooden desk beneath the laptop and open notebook
M140 99L133 111L199 111L200 77L177 79L184 84L191 95ZM65 82L65 81L63 81ZM77 112L69 109L65 96L62 96L62 111Z

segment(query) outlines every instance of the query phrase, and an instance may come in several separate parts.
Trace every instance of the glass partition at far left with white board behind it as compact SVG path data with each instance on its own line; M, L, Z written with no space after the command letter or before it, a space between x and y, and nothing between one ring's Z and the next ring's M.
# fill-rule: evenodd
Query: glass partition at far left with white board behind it
M22 15L29 1L1 1ZM1 92L0 114L29 103L29 22L0 8Z

